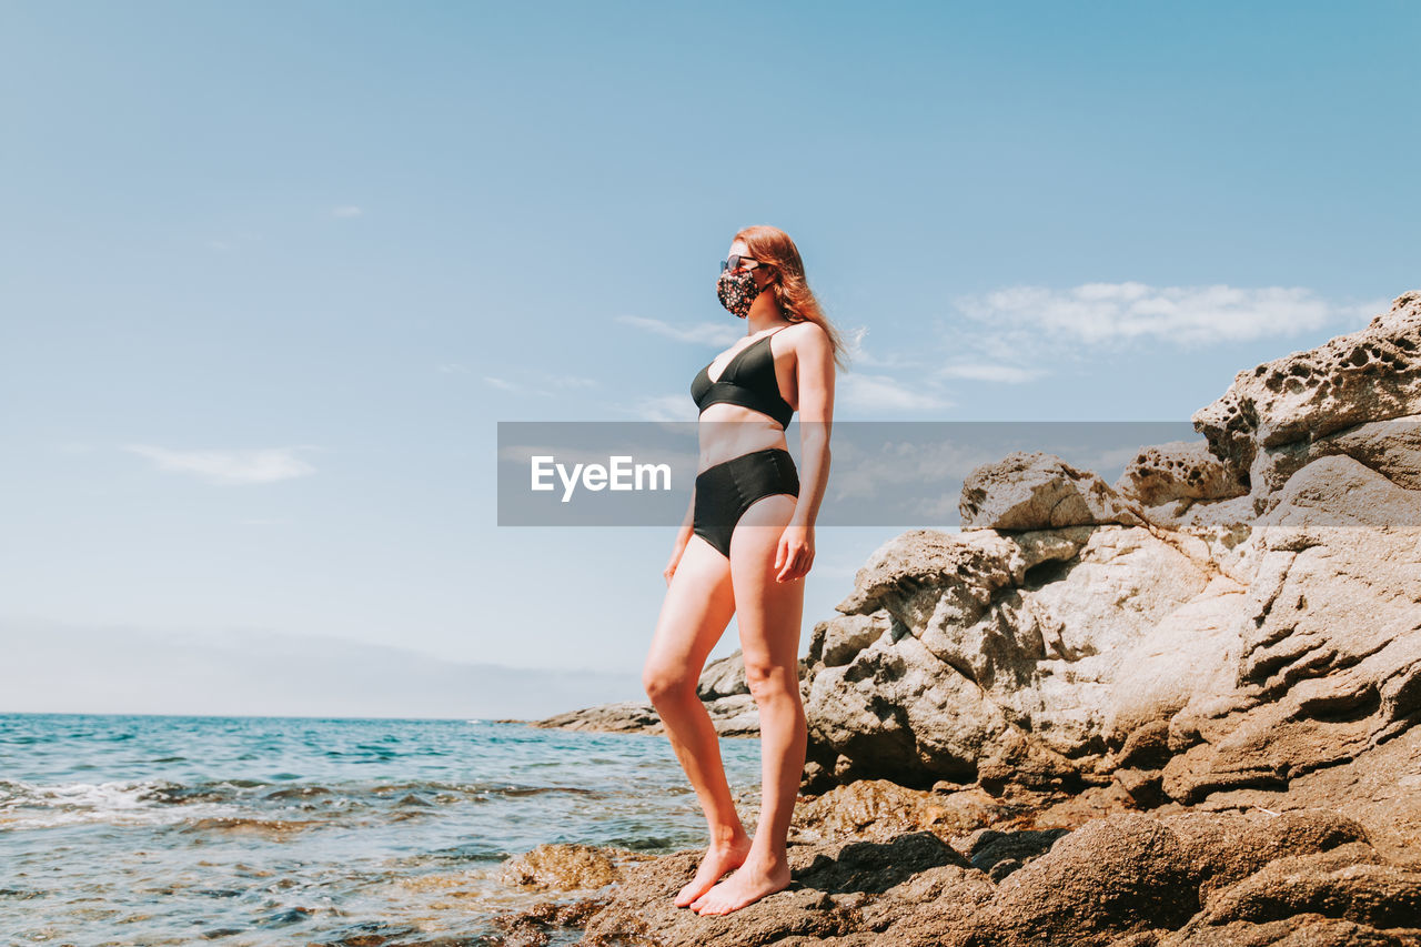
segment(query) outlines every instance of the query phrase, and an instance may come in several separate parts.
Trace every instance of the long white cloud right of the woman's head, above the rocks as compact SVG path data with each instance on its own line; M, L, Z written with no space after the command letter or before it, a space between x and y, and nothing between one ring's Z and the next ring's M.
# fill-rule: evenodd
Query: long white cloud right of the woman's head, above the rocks
M1147 286L1084 283L1073 289L1016 286L956 300L968 317L1025 341L1128 343L1155 338L1179 346L1290 336L1353 317L1304 287Z

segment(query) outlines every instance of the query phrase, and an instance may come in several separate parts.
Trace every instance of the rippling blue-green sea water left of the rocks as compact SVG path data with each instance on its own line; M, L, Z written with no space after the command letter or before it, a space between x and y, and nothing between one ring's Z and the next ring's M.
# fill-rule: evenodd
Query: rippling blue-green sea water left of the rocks
M746 828L757 739L722 739ZM698 847L665 737L462 719L0 715L0 944L479 944L581 893L544 842Z

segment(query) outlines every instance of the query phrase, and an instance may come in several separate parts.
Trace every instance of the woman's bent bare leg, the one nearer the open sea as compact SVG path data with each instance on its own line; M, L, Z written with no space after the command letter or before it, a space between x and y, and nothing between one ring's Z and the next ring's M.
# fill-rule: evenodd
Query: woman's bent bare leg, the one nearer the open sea
M722 874L739 866L750 849L720 761L720 741L710 714L696 695L701 673L735 614L730 562L701 536L681 555L657 619L657 633L642 668L642 687L666 727L682 769L706 813L710 845L675 903L685 907Z

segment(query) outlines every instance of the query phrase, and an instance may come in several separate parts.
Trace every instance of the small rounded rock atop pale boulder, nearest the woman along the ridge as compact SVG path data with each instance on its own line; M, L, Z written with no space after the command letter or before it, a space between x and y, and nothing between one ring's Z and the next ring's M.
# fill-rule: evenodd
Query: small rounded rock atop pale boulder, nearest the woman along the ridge
M1060 529L1121 523L1140 515L1100 476L1053 454L1016 452L972 471L962 485L962 529Z

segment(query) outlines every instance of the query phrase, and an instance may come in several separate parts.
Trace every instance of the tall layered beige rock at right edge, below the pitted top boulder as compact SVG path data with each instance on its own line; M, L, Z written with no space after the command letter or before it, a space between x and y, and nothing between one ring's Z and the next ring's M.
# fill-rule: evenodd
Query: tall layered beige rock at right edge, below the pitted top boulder
M1421 493L1349 456L1289 481L1260 520L1239 688L1172 721L1198 741L1165 766L1181 802L1286 786L1356 758L1421 712Z

